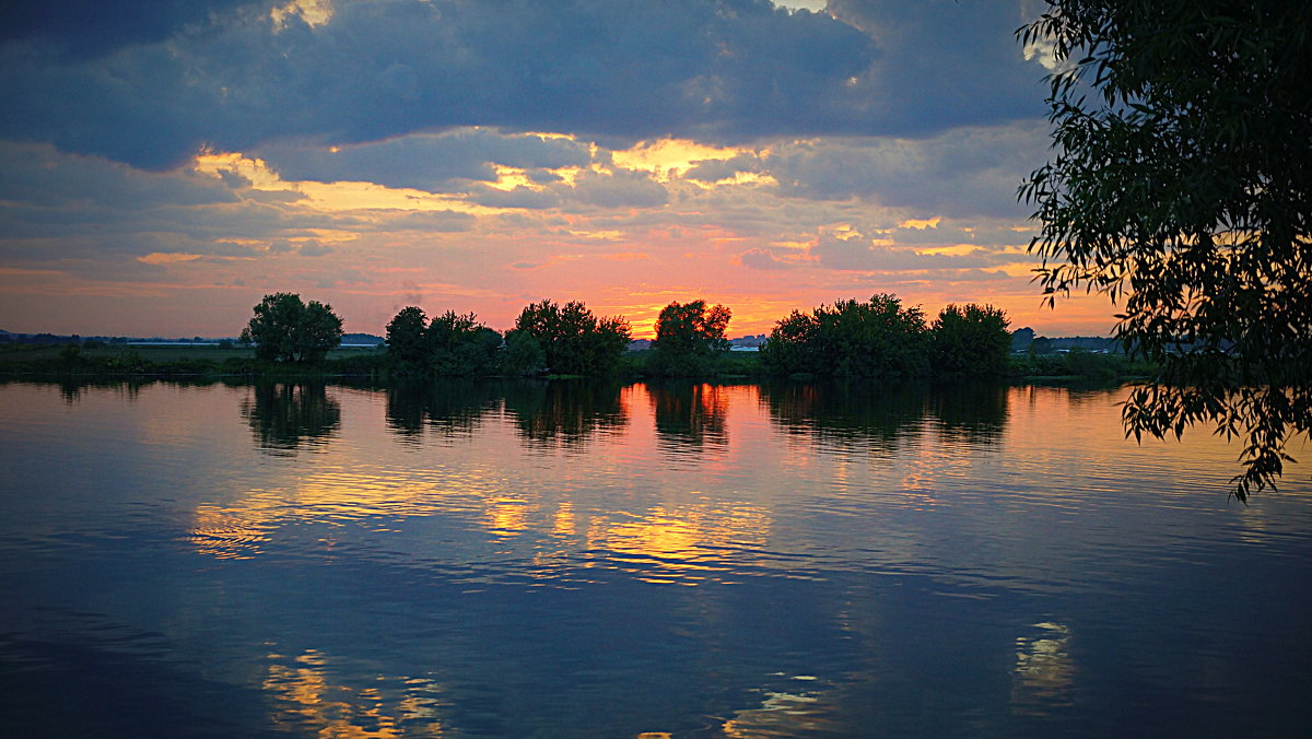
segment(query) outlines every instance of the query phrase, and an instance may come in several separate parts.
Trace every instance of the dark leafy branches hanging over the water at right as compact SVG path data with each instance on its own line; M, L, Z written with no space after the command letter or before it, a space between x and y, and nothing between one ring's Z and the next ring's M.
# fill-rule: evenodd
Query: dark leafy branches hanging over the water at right
M1312 427L1312 4L1048 0L1018 35L1069 66L1021 186L1038 280L1122 306L1117 336L1161 366L1127 434L1241 438L1246 500Z

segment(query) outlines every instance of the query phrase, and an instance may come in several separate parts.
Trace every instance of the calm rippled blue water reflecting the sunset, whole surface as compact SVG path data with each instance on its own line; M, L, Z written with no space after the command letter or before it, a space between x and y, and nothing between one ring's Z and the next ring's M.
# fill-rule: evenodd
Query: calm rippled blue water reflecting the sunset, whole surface
M1123 395L0 385L0 727L1305 735L1308 466Z

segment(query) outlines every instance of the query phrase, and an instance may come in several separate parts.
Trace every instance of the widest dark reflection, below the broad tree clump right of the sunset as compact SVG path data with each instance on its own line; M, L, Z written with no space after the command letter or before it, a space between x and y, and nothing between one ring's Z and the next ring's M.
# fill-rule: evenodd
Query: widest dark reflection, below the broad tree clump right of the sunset
M893 452L924 427L928 392L918 385L774 382L761 386L761 403L789 433Z

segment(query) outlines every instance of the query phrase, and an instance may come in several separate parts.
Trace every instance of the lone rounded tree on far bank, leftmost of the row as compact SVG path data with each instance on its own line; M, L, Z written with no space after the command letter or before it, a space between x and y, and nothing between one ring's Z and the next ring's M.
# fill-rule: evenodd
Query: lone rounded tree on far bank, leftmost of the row
M265 295L255 318L241 329L241 341L255 344L256 357L270 362L314 364L341 344L341 319L332 306L295 293Z

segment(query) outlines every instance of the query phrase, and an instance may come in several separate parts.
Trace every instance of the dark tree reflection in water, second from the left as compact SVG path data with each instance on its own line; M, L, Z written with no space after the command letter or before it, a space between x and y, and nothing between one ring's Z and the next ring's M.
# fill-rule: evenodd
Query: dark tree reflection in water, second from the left
M474 379L409 381L387 387L387 428L419 441L424 429L451 438L471 436L496 407L502 389Z

